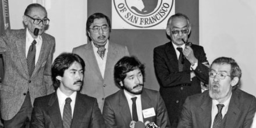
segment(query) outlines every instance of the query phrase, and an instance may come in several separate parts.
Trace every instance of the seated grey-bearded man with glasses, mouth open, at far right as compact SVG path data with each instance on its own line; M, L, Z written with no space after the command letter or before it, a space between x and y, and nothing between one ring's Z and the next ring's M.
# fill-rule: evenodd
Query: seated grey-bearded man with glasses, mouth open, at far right
M250 127L256 98L238 88L241 69L232 58L212 62L209 90L188 97L178 127Z

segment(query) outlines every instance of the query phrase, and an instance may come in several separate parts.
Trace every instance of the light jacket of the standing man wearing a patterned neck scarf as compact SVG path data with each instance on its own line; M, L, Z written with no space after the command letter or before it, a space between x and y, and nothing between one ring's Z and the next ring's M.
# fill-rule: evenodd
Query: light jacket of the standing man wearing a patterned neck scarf
M81 56L86 63L83 87L80 92L97 98L99 109L102 111L105 98L120 90L120 88L115 85L113 71L119 59L123 56L129 56L127 47L109 41L104 79L99 70L91 42L74 48L73 53Z

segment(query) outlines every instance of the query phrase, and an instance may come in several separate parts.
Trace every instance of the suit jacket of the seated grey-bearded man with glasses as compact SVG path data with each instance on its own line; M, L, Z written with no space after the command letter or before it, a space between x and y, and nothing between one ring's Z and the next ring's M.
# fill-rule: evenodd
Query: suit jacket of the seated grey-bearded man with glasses
M256 98L240 89L232 91L229 108L223 118L225 128L249 128L256 111ZM178 127L211 127L212 98L209 90L192 95L183 105Z

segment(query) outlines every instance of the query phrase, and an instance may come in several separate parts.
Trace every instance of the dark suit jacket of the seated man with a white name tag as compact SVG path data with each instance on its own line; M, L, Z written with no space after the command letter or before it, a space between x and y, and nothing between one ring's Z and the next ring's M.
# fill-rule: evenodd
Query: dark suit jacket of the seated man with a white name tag
M161 127L170 127L168 114L158 91L143 89L141 94L142 109L154 108L156 116L150 118L144 118L144 122L147 120L155 122ZM103 108L103 118L105 120L106 127L113 128L127 128L131 122L131 113L129 105L123 90L119 90L117 93L110 95L105 99Z

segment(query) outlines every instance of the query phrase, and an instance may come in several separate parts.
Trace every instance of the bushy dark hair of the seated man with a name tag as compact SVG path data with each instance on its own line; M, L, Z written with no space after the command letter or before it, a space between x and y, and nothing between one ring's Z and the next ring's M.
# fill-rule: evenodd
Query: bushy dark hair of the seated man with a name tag
M114 67L115 83L120 86L120 81L123 82L126 73L135 69L140 69L144 81L145 66L135 56L124 56L121 58Z

